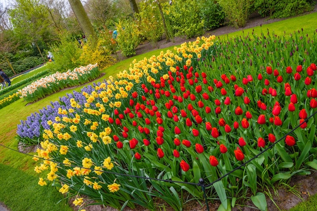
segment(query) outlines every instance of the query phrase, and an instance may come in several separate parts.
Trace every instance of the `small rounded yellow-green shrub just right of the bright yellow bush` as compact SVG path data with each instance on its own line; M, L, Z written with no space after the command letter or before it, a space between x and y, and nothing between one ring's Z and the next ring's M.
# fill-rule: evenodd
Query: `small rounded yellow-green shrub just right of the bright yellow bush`
M120 21L117 25L116 41L121 54L125 57L135 55L135 49L140 44L140 32L132 19Z

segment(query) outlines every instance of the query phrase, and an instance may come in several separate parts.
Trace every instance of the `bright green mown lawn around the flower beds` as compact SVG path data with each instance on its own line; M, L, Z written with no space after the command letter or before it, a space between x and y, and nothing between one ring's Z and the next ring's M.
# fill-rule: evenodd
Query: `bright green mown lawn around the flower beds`
M303 29L305 34L311 35L316 30L316 20L317 13L312 13L263 25L262 27L258 26L245 29L244 31L221 35L219 38L223 39L226 37L240 36L243 35L243 33L252 33L253 30L256 34L260 34L262 31L263 33L267 33L266 29L269 29L270 33L274 32L278 36L291 34L294 33L294 31L301 29ZM168 49L173 49L173 46L153 50L146 54L138 55L117 63L103 70L105 75L96 81L102 81L110 75L115 76L115 74L120 71L128 70L134 59L138 61L143 58L149 58L152 55L159 55L162 50L165 52ZM38 68L30 73L26 73L23 76L13 79L13 81L18 82L23 80L39 71L43 71L45 68L46 67ZM92 83L93 82L88 84ZM64 96L66 93L72 92L72 90L79 91L88 84L74 89L59 91L29 105L26 105L26 102L23 101L23 99L19 99L11 105L1 109L0 116L2 117L2 130L0 131L0 144L17 150L18 142L15 139L15 135L20 120L26 120L31 113L46 107L51 101L58 100L60 96ZM11 210L72 210L69 205L65 204L65 201L56 204L61 200L62 195L54 188L37 185L38 175L35 174L33 169L34 162L31 159L31 156L0 146L0 201L4 202ZM317 195L314 195L308 201L299 204L292 210L315 210L317 207L316 204Z

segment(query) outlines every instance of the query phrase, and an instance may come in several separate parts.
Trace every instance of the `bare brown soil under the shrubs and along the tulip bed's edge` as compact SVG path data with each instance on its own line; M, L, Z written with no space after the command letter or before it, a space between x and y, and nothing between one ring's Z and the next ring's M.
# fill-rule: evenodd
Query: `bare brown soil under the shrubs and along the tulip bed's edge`
M314 10L308 13L314 13L317 12L317 5L315 5ZM209 35L223 35L223 34L228 34L231 32L235 32L237 30L244 30L248 28L253 28L256 26L260 25L265 25L269 23L273 23L276 21L281 21L284 19L267 19L267 18L262 18L259 15L252 14L250 19L248 20L247 24L243 28L236 29L232 26L223 26L215 30L207 31L204 36L209 36ZM169 46L174 46L174 45L179 45L184 42L188 41L194 41L196 38L190 38L186 39L184 37L175 37L172 41L167 42L166 40L161 40L158 42L159 48L166 48ZM150 42L144 42L140 44L136 48L136 55L141 55L144 54L145 52L151 51L158 49L156 46L153 46ZM126 57L122 56L120 52L117 52L117 57L119 61L127 59ZM21 151L24 152L29 152L33 151L34 148L28 148L28 149L23 149L23 147L20 148ZM317 173L312 173L311 175L307 176L294 176L291 178L289 181L289 187L288 188L278 188L275 192L273 189L270 189L269 192L271 193L271 198L266 197L267 201L267 206L270 211L275 211L275 210L289 210L290 208L294 207L296 204L298 204L301 201L308 200L311 195L314 195L317 193ZM292 191L293 190L293 191ZM295 194L294 194L295 193ZM81 196L83 197L83 196ZM78 207L75 207L72 204L72 201L74 199L69 200L70 206L73 207L74 210L77 210ZM206 203L202 201L202 204L192 200L186 204L184 204L183 210L185 211L201 211L201 210L207 210ZM251 199L246 200L243 202L244 205L236 205L234 208L232 208L233 211L251 211L251 210L258 210L257 208L254 207ZM217 210L220 205L219 201L209 201L208 206L210 211ZM117 211L117 209L114 209L112 207L103 207L101 205L91 205L85 207L86 211ZM168 205L165 205L164 208L162 208L166 211L172 211L172 208L169 208ZM1 210L1 209L0 209ZM148 209L144 209L143 207L137 207L136 209L130 209L130 208L125 208L124 211L148 211Z

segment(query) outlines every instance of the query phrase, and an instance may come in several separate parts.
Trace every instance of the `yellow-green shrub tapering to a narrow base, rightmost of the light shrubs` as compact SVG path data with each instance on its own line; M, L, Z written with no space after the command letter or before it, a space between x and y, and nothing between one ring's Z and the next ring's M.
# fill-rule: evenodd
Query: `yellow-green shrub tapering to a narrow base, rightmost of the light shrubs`
M235 28L246 25L251 8L250 0L220 0L218 3L223 8L230 25Z

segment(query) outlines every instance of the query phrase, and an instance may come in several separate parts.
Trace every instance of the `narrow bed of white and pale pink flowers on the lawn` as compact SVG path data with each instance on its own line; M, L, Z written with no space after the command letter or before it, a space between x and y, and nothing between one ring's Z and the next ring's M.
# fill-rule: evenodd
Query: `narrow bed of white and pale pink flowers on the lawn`
M56 72L38 79L19 90L20 97L27 102L33 102L66 87L76 86L97 78L100 72L97 64L75 68L64 73Z

